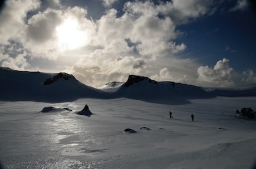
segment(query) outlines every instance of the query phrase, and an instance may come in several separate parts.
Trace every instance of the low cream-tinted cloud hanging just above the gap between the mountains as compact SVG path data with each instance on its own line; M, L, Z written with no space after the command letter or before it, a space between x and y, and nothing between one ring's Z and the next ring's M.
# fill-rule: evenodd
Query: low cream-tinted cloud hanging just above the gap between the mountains
M110 81L126 81L130 74L140 75L146 68L147 62L141 58L118 55L112 60L97 50L66 71L86 85L97 87Z

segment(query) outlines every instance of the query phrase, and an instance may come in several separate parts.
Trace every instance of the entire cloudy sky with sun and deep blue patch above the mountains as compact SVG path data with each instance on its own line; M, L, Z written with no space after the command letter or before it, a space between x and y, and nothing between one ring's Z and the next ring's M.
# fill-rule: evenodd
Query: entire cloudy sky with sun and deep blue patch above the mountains
M8 0L0 66L95 88L130 74L203 87L256 83L255 2Z

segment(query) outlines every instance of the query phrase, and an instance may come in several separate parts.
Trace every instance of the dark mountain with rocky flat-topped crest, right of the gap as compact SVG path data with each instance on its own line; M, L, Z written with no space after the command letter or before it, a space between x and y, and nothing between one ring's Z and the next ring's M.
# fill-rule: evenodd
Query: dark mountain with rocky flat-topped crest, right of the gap
M116 91L116 95L154 103L187 103L187 99L214 98L214 95L198 86L155 81L144 76L130 75L127 81Z

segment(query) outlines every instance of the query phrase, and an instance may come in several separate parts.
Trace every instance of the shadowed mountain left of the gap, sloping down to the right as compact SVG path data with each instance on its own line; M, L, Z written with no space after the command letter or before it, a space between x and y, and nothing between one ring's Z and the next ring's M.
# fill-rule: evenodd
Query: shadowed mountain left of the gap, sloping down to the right
M106 98L101 90L76 80L67 73L40 73L0 68L0 99L59 102L78 98Z

